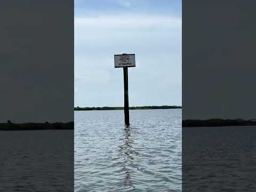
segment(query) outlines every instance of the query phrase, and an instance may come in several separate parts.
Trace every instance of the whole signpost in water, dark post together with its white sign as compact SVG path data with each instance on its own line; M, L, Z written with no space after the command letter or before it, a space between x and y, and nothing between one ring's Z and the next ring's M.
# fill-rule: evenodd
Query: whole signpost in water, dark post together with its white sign
M129 98L128 98L128 67L135 67L135 54L114 55L115 68L123 67L124 70L124 122L130 125L129 120Z

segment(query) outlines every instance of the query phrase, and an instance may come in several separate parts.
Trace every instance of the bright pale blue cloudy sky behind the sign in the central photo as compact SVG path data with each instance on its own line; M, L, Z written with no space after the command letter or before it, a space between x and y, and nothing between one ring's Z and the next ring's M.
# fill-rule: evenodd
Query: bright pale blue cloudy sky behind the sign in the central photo
M135 53L130 106L180 106L181 27L181 1L75 0L74 106L124 105L122 53Z

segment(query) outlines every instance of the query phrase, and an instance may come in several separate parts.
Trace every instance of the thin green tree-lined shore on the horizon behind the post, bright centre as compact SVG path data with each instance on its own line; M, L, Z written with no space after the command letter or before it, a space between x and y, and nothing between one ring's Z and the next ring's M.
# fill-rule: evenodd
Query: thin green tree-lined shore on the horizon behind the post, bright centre
M181 106L142 106L129 109L181 109ZM123 110L124 107L75 107L74 110Z

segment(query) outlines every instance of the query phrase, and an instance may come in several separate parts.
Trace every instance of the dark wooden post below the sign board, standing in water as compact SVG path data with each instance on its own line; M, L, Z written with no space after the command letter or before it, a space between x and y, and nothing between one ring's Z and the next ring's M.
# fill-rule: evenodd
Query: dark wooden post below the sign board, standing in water
M130 125L129 121L129 97L128 97L128 68L124 67L124 122Z

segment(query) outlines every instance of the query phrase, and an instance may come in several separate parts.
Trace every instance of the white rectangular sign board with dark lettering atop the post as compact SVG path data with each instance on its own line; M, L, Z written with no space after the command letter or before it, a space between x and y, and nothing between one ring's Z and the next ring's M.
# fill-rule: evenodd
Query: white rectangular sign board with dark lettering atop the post
M115 67L135 67L135 54L114 55Z

